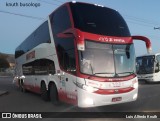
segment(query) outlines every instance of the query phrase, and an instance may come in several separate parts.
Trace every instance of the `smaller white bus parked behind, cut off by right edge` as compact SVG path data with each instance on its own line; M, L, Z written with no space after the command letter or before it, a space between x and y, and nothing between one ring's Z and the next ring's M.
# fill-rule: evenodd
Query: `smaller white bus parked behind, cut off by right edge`
M139 81L160 82L160 53L138 56L136 63Z

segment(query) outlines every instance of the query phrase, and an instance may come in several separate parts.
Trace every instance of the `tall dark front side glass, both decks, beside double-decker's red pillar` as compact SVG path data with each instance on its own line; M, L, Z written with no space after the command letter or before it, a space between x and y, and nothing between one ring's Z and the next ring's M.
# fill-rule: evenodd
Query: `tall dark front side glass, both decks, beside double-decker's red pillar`
M57 34L71 28L70 17L66 6L59 8L51 17L52 31L62 69L70 73L76 72L76 59L73 37L58 37Z

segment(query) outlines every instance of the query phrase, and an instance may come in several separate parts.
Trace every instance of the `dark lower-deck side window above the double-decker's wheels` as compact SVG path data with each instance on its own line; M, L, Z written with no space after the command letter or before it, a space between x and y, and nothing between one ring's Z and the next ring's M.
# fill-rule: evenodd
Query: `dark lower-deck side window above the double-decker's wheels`
M23 65L24 75L55 74L54 62L48 59L39 59Z

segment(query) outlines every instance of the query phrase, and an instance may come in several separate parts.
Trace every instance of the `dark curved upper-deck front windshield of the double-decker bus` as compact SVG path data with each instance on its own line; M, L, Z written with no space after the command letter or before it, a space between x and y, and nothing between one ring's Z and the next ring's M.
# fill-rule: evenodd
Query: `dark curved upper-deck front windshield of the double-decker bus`
M126 22L117 11L92 4L70 3L70 5L75 28L100 35L130 36Z

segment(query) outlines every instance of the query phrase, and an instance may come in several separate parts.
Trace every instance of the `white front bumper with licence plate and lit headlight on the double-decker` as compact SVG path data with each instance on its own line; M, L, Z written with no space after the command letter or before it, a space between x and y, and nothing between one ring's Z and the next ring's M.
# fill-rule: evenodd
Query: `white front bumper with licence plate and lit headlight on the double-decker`
M97 94L78 89L78 107L96 107L135 101L138 96L138 88L127 93Z

